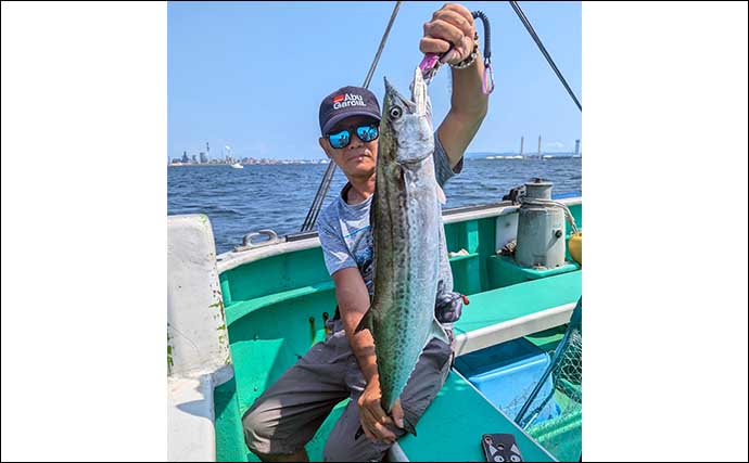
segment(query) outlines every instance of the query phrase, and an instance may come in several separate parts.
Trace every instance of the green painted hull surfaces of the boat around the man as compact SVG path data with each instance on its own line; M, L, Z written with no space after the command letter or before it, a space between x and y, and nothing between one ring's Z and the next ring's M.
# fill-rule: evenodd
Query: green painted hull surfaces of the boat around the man
M569 202L569 206L577 226L582 227L582 202L577 198ZM493 214L494 209L498 213ZM576 263L558 271L529 271L511 262L508 265L505 257L498 256L498 217L516 209L494 209L474 208L445 216L448 250L467 252L467 255L450 258L455 288L471 299L456 324L456 334L467 338L464 351L475 350L481 343L486 343L485 338L492 339L488 335L468 339L472 333L491 331L492 326L510 326L518 320L528 319L525 324L533 325L530 320L534 316L549 308L574 304L582 293L582 271ZM241 253L219 256L219 281L234 377L214 391L217 461L258 461L244 443L242 414L310 346L325 338L325 320L334 313L335 295L319 245L304 244L310 240L316 239L302 240L299 245L287 243L291 250L267 246L257 249L261 257L252 259L242 260L238 256ZM569 320L569 314L567 318ZM503 327L493 336L495 339L511 338L513 330ZM561 338L563 323L558 323L556 331L549 332L547 327L542 331L523 335L553 351ZM505 332L511 333L502 334ZM307 445L313 461L322 461L327 435L346 402L333 410ZM531 434L525 434L454 371L420 421L418 437L401 439L398 451L410 461L483 461L481 435L506 432L516 435L525 460L554 461L556 456L542 446L545 436L570 428L579 430L581 422L582 415L579 415L566 420L558 429L531 429ZM436 440L439 446L435 446L435 438L440 439ZM570 445L574 453L581 442Z

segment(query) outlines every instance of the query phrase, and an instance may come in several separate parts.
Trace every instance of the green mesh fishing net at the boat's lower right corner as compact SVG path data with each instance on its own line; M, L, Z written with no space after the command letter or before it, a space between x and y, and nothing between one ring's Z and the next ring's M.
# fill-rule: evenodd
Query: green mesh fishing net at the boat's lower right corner
M531 385L505 410L509 416L516 416L516 423L559 461L576 462L581 458L582 333L581 299L549 366L537 383Z

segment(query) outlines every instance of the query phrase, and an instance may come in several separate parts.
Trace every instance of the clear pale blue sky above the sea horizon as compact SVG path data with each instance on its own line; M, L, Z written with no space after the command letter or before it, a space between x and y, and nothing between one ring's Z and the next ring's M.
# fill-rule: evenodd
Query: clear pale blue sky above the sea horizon
M323 97L361 86L395 2L169 2L168 158L205 151L224 157L323 158L318 110ZM403 2L372 78L407 92L419 64L422 25L444 2ZM582 120L561 82L508 2L465 2L491 23L496 88L468 152L574 151ZM583 103L580 2L520 2ZM481 49L483 25L477 20ZM430 85L436 124L447 114L449 70ZM581 141L581 151L584 142Z

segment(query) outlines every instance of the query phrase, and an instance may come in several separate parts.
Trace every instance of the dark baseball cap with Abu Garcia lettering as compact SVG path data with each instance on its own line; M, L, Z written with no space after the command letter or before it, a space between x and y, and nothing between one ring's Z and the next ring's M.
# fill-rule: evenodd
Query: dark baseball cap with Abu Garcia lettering
M374 93L364 87L342 87L320 103L320 132L328 133L339 121L350 116L370 116L380 120L380 104Z

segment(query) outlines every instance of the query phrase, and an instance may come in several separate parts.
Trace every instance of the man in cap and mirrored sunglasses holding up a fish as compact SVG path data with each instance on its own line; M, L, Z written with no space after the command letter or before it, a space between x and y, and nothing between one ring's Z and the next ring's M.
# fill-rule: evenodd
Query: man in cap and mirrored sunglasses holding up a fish
M486 114L483 64L471 13L446 4L424 24L423 53L445 53L452 66L450 110L435 132L436 179L444 184L462 168L462 154ZM307 461L304 445L332 408L351 397L325 448L326 461L379 461L405 434L404 415L416 425L449 373L452 346L432 339L389 416L380 406L374 343L369 331L354 334L372 292L372 234L369 208L374 192L380 107L370 91L344 87L320 105L320 147L345 173L341 195L320 216L318 231L326 266L335 284L339 310L331 334L318 343L261 396L242 419L247 447L264 461ZM435 314L449 329L459 317L459 297L444 239ZM356 438L361 426L367 438Z

